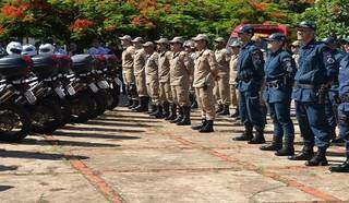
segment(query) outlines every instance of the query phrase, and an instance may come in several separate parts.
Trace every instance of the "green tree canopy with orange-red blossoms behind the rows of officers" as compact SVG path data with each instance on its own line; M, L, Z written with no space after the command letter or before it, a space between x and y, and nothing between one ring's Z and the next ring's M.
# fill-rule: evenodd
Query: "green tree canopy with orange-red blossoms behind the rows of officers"
M345 3L347 1L320 0L315 8L305 10L313 1L3 0L0 2L0 37L5 40L33 37L61 41L89 41L99 37L113 41L123 34L147 39L160 36L191 37L197 33L228 36L241 23L292 25L298 15L316 19L317 22L332 22L326 19L329 13L325 16L316 11L320 9L324 12L327 9L321 2L341 2L332 3L333 12L339 12L335 8L348 7ZM348 13L341 15L345 17ZM335 22L325 27L339 28ZM340 27L345 26L342 24ZM325 32L325 28L321 31Z

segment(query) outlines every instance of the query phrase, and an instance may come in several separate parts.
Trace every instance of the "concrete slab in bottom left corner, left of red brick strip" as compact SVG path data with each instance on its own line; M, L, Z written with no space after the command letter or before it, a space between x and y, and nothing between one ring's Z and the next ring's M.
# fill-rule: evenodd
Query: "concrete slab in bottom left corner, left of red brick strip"
M3 203L108 202L79 174L0 176L0 196Z

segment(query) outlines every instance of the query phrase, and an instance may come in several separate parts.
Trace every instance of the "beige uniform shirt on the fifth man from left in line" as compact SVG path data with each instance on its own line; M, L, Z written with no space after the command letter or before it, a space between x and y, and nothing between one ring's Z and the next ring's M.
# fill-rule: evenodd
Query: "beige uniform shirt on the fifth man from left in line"
M182 85L189 84L191 58L185 51L172 53L170 62L170 84Z

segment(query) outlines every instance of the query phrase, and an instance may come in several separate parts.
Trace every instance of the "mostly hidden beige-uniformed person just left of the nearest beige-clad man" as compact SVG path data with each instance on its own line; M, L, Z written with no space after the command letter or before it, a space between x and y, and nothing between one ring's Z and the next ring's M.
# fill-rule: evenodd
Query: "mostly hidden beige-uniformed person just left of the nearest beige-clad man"
M196 48L195 48L195 43L193 40L186 40L184 41L184 50L189 55L192 61L195 60L196 58ZM189 87L189 100L191 104L191 109L197 108L197 101L196 101L196 96L195 96L195 88L193 87L193 81L194 81L194 63L192 67L191 75L190 75L190 87Z

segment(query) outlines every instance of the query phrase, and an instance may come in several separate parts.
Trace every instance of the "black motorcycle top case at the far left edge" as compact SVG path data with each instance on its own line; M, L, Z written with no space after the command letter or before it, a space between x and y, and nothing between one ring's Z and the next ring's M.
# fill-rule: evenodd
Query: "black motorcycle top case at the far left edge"
M29 73L32 62L29 57L5 56L0 59L0 75L9 81L20 80Z

